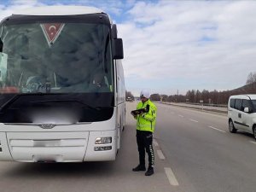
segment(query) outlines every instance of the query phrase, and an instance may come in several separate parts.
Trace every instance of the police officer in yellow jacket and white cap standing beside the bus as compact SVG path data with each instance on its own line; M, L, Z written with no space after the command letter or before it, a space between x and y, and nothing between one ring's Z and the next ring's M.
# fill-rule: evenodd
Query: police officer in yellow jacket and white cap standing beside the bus
M139 152L139 165L132 169L133 172L146 171L145 149L148 154L148 170L146 176L154 174L154 150L152 146L154 125L156 119L156 107L149 100L149 91L142 90L141 102L137 104L137 109L148 108L146 112L133 114L137 119L137 148Z

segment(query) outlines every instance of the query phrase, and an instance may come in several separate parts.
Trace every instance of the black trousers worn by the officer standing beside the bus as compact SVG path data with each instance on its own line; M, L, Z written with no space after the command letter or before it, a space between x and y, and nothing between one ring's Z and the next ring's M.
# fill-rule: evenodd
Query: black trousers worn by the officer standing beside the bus
M145 166L145 149L148 154L148 167L154 167L153 134L150 131L137 130L137 149L140 165Z

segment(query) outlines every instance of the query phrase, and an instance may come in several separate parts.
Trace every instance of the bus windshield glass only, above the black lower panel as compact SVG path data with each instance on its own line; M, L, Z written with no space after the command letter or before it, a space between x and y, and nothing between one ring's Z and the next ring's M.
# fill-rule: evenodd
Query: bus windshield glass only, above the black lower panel
M0 35L2 93L113 92L107 25L3 24Z

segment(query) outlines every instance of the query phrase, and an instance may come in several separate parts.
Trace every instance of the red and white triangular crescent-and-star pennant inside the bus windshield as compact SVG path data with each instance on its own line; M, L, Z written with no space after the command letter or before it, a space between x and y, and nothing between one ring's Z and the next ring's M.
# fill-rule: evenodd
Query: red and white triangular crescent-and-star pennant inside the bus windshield
M49 47L51 47L55 43L55 40L60 36L64 25L65 24L63 23L44 23L40 25Z

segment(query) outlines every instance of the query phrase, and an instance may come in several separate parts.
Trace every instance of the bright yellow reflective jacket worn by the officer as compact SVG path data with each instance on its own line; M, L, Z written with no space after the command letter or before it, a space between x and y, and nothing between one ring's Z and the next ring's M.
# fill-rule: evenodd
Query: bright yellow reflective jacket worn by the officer
M135 117L137 119L137 130L154 132L157 108L149 99L147 102L139 102L137 109L146 108L149 105L148 113L142 113Z

